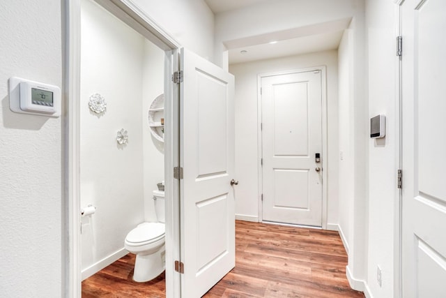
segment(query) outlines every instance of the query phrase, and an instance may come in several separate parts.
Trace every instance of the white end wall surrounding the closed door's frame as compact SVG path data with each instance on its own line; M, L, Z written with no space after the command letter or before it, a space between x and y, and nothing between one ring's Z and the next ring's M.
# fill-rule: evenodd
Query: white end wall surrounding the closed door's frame
M236 77L236 214L238 218L259 218L257 75L327 66L328 105L328 223L338 222L338 118L337 51L318 52L281 59L232 64ZM332 225L330 225L332 226Z

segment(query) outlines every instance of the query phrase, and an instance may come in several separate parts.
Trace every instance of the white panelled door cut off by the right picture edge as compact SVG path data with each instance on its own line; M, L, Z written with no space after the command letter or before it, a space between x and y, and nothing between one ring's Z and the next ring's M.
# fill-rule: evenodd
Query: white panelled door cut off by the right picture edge
M446 1L402 10L402 297L445 297Z

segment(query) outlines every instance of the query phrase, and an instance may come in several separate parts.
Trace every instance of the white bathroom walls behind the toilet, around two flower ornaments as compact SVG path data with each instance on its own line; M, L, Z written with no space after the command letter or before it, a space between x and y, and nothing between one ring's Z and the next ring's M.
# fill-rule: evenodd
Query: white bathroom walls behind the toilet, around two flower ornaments
M82 278L114 262L127 233L153 218L152 191L164 180L164 156L148 128L148 105L164 88L164 52L91 0L82 1L81 206ZM105 97L107 110L89 110L89 96ZM116 142L128 131L128 144ZM160 142L154 140L160 145Z

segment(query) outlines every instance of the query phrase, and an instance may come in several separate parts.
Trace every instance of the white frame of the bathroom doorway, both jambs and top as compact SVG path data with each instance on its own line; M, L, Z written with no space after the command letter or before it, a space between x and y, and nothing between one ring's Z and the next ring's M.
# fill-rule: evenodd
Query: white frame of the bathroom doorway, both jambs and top
M178 70L178 43L151 17L146 15L131 0L92 0L118 17L132 29L160 47L164 56L164 177L166 195L174 198L166 200L166 296L180 297L180 276L174 274L174 260L179 260L179 181L174 179L174 167L179 164L179 89L171 80L172 73ZM81 0L63 2L65 16L63 36L64 104L63 193L65 209L62 211L66 231L63 254L67 261L63 264L63 295L79 298L81 285L81 234L80 234L80 42L81 42Z

